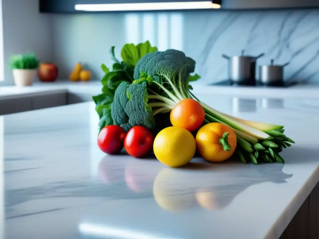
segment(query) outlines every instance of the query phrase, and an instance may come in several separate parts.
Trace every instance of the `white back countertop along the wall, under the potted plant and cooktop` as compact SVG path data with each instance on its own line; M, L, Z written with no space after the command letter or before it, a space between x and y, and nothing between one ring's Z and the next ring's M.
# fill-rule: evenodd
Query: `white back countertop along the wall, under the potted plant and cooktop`
M214 95L236 95L246 97L267 97L267 98L319 98L319 84L300 84L288 88L278 87L252 87L252 86L212 86L194 85L194 93L196 94L214 94ZM0 87L0 100L19 98L27 96L38 96L54 93L88 93L100 94L100 81L89 82L70 82L68 80L56 81L53 83L35 82L32 86L18 88L15 86Z

